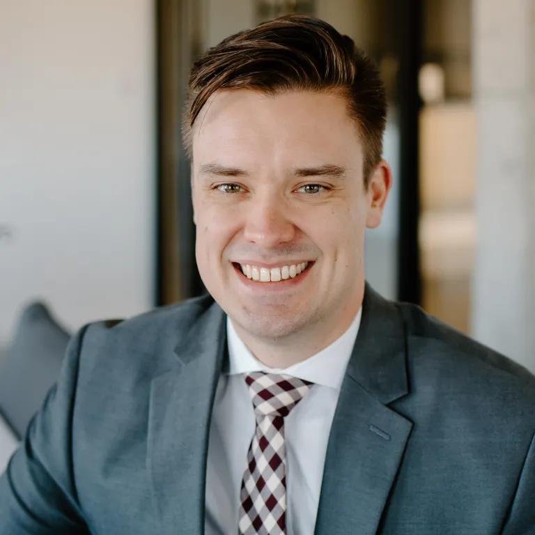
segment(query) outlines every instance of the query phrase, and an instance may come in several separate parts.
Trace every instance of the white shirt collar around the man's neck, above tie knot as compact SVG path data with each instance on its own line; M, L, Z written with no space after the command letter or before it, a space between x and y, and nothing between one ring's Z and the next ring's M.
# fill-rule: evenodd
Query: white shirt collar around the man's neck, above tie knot
M236 332L231 318L226 318L228 343L228 375L265 371L267 373L285 373L317 385L340 389L346 373L349 359L357 339L362 317L362 307L346 332L325 349L308 359L297 362L286 369L273 369L265 366L249 351Z

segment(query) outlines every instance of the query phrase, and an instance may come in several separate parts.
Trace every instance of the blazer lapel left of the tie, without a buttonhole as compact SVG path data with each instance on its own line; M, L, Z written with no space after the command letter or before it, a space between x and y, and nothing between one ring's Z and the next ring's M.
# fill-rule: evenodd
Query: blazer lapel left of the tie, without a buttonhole
M226 347L224 313L213 304L175 350L175 365L150 389L147 468L160 526L204 532L210 415Z

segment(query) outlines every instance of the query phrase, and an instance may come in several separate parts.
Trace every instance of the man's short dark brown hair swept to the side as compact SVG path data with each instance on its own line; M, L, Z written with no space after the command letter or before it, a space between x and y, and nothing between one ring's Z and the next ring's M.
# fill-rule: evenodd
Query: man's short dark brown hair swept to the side
M208 49L192 67L183 116L183 140L192 156L191 131L210 96L219 89L268 94L288 90L337 91L364 145L364 182L381 158L387 103L372 61L348 36L306 15L287 15L240 31Z

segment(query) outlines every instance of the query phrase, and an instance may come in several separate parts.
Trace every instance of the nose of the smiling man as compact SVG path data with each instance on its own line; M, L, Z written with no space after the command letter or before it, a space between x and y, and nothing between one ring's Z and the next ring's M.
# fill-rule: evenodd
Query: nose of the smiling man
M295 225L284 199L271 192L258 192L245 213L244 238L263 249L291 242Z

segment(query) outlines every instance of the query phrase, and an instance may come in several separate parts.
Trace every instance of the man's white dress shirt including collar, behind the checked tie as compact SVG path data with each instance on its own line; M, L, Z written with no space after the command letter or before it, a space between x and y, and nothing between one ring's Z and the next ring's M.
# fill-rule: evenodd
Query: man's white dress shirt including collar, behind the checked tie
M208 444L206 535L238 533L240 489L255 429L253 404L242 374L251 371L286 373L315 383L284 419L286 533L313 534L327 441L361 315L362 309L330 346L286 369L270 369L259 362L227 318L228 369L217 384Z

